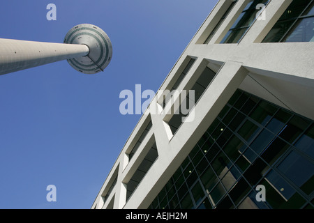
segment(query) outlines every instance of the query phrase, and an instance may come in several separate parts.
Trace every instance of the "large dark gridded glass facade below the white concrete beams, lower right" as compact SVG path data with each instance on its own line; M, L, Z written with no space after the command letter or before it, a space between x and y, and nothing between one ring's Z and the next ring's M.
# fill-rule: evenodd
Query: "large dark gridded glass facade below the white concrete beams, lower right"
M313 121L237 90L149 208L313 208L313 174Z

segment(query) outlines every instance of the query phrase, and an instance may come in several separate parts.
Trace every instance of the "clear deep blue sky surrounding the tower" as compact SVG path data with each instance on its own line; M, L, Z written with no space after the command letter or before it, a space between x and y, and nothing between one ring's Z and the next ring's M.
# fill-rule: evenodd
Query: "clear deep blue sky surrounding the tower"
M120 114L119 93L135 84L156 92L216 2L1 1L0 38L62 43L90 23L110 37L113 56L96 75L59 61L0 76L0 208L91 208L140 118ZM46 19L48 3L57 21Z

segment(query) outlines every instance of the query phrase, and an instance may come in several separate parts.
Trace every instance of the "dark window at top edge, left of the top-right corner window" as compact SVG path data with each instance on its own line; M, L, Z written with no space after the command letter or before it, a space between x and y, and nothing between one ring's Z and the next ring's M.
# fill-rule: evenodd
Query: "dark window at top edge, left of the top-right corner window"
M260 10L257 5L260 3L266 5L268 2L269 0L251 0L248 2L246 8L244 8L220 43L239 43L256 19L256 13Z

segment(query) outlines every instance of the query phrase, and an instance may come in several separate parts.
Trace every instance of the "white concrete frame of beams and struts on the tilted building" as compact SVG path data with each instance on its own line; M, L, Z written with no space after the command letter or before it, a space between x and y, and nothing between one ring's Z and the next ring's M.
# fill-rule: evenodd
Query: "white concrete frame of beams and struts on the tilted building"
M194 107L195 120L183 123L173 135L167 125L172 115L144 114L122 148L91 208L107 208L109 204L111 208L147 208L237 89L314 119L314 43L260 43L292 0L271 0L265 8L266 21L255 20L238 44L219 44L248 1L239 0L209 43L200 44L232 2L218 1L160 86L160 90L171 89L174 77L187 63L187 56L196 61L178 90L190 89L205 66L217 71ZM160 103L161 100L155 99L147 108L148 113L151 107L160 108L156 101ZM138 132L146 127L149 116L153 124L151 130L128 163L126 152L136 143ZM154 141L158 158L126 202L126 183ZM103 203L101 195L111 186L117 168L117 184Z

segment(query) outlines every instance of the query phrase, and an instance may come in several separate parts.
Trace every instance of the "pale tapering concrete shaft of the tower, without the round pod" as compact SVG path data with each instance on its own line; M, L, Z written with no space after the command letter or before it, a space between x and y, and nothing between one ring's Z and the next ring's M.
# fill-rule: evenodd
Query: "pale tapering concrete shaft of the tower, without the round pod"
M0 38L0 75L88 54L87 45Z

